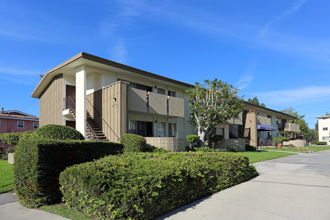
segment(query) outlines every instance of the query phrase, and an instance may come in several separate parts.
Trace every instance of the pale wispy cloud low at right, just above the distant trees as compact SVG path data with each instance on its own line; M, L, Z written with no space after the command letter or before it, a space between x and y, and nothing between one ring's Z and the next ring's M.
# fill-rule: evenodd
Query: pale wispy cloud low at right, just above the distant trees
M289 85L289 84L287 84ZM285 86L285 85L283 85ZM266 105L306 105L319 104L318 100L330 99L330 86L309 86L285 90L264 91L253 93Z

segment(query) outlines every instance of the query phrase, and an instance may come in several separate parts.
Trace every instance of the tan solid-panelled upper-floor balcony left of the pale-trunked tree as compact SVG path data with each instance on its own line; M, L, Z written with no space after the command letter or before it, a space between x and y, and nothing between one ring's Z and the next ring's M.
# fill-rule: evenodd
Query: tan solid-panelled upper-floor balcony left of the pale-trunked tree
M184 100L154 92L129 88L128 110L184 117Z

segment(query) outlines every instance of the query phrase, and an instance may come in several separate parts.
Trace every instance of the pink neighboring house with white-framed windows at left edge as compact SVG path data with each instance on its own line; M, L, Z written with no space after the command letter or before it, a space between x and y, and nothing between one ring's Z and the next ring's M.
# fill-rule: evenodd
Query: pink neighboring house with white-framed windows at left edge
M4 111L3 108L1 108L0 134L25 132L29 130L37 130L38 128L38 117L17 110ZM8 147L13 147L14 145L2 143L0 141L0 146L3 146L2 153L6 153Z

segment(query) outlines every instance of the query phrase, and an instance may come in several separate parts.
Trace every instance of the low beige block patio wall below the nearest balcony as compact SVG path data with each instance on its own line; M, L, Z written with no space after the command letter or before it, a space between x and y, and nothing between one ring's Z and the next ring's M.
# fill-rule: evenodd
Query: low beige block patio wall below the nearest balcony
M172 152L185 151L184 138L146 138L147 145L162 147Z

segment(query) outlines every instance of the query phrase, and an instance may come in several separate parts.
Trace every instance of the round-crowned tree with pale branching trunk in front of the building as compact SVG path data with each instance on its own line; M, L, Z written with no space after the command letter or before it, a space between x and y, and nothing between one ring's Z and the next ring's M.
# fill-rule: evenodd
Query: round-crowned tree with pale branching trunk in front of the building
M235 118L244 107L243 96L238 96L237 88L221 80L204 80L204 84L195 82L193 88L186 93L189 95L189 121L197 127L200 136L200 146L205 146L205 140L218 124Z

